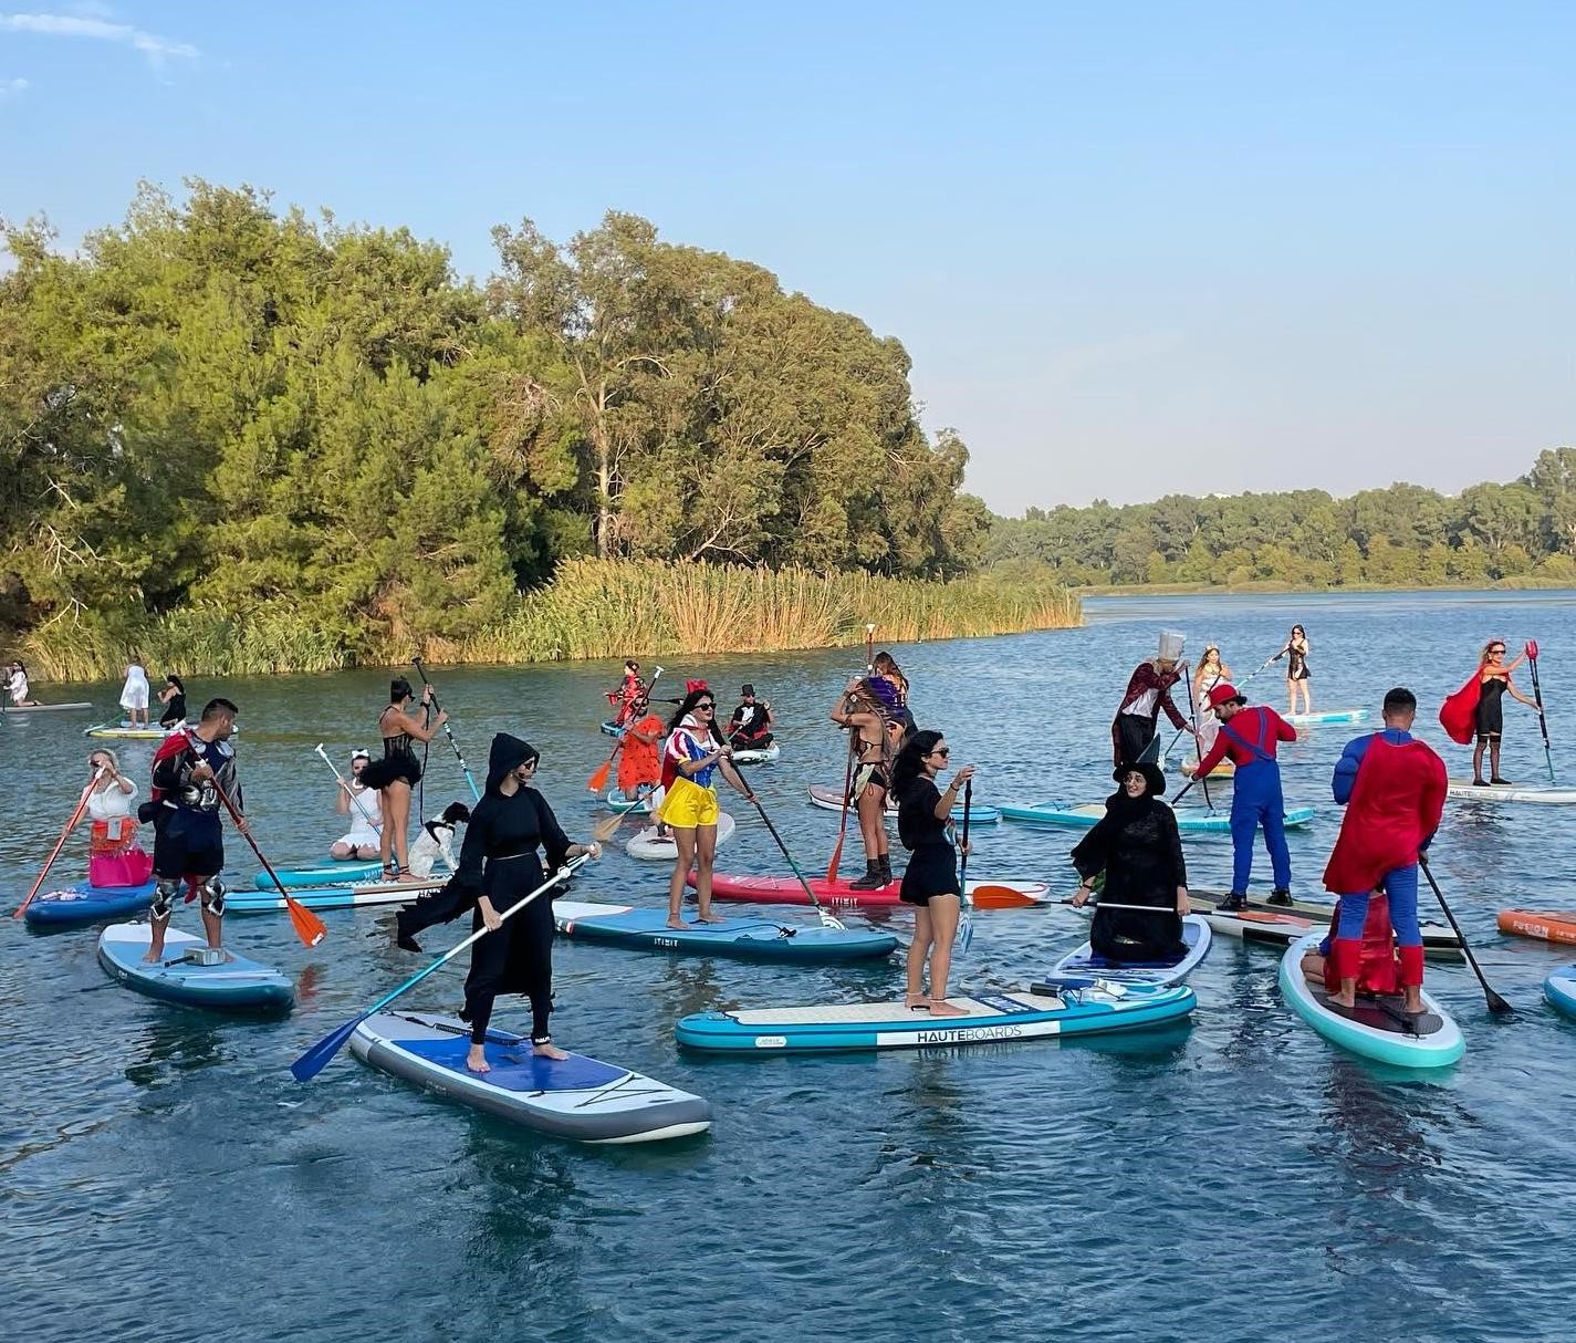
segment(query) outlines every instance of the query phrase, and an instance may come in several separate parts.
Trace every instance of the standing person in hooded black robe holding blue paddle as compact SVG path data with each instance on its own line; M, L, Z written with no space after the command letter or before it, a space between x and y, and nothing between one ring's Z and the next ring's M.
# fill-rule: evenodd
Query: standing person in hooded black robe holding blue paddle
M500 993L523 993L531 999L531 1045L550 1059L569 1058L553 1045L547 1018L553 1010L553 910L552 897L537 897L509 921L500 916L547 881L572 858L602 856L599 843L572 843L531 780L541 760L536 747L509 733L498 733L487 758L487 788L471 810L460 848L460 867L437 895L399 911L399 944L421 951L414 935L474 910L473 930L487 928L471 949L471 973L465 977L465 1009L460 1020L471 1028L465 1066L490 1072L482 1044L493 1003ZM544 850L544 867L537 850Z

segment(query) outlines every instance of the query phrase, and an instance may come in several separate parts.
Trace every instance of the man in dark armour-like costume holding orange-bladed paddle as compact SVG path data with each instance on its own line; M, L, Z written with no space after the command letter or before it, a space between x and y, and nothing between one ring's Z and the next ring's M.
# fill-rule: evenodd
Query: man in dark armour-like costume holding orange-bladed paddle
M150 941L143 960L164 960L164 935L175 913L175 897L186 883L188 903L202 897L202 925L210 947L224 944L224 823L219 794L236 813L243 810L235 776L230 736L240 712L229 700L203 705L194 728L177 728L153 753L153 790L164 815L153 828L153 906L148 911ZM246 820L235 828L246 834Z

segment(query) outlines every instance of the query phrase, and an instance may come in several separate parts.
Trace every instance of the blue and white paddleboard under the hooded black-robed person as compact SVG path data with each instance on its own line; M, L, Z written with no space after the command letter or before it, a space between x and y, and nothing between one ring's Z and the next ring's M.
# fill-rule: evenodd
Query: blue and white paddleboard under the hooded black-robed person
M544 1059L525 1036L489 1031L492 1072L465 1067L470 1026L424 1012L369 1017L350 1051L438 1096L577 1143L654 1143L711 1127L711 1105L656 1078L585 1055Z

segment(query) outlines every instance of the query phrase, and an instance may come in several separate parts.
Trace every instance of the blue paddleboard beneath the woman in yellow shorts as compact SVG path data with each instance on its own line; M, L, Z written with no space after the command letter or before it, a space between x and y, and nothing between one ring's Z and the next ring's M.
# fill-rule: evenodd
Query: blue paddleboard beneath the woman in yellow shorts
M553 922L564 936L637 951L731 955L799 965L879 960L897 951L897 938L890 933L826 928L820 924L791 925L775 919L728 919L722 924L670 928L665 908L600 905L589 900L555 900Z

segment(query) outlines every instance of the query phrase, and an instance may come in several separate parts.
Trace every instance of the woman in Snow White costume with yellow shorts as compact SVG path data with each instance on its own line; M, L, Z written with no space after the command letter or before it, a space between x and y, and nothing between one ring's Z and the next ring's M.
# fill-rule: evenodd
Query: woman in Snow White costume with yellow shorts
M725 922L711 913L711 873L717 859L717 790L712 783L717 771L747 802L755 801L750 785L733 768L733 747L717 727L717 697L704 681L690 681L673 722L668 724L668 744L662 752L662 810L660 820L671 832L678 848L673 875L668 878L668 927L684 927L684 886L690 869L695 870L695 898L700 903L701 924Z

